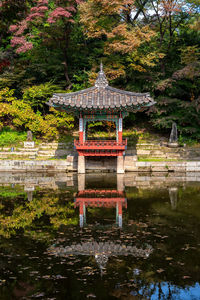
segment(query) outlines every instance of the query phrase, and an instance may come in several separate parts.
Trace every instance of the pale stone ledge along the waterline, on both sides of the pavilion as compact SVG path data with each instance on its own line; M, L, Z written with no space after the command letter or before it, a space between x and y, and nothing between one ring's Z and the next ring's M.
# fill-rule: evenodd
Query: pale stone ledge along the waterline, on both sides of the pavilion
M116 160L103 159L87 160L86 170L90 171L116 171ZM188 173L197 174L200 172L200 161L191 162L140 162L136 161L135 156L125 156L124 168L126 172L144 172L144 173ZM77 171L77 156L68 155L66 159L60 160L0 160L0 171L15 171L15 172L70 172ZM191 175L196 176L196 175Z

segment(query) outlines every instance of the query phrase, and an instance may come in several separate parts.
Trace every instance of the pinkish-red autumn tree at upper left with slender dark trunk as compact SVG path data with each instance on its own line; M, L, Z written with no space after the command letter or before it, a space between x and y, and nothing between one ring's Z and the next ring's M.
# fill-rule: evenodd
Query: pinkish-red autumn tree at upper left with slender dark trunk
M38 45L47 49L60 49L63 57L64 74L70 85L68 74L68 48L70 34L80 0L35 0L26 17L10 26L13 36L11 46L16 53L26 53Z

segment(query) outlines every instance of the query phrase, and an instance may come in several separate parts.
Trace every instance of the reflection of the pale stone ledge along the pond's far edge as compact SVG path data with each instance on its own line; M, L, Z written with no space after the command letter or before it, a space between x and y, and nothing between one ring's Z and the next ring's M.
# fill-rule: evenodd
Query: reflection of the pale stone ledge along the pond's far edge
M96 174L97 175L97 174ZM85 175L82 180L84 180ZM79 175L80 177L80 175ZM111 174L98 174L100 182L108 181L116 188L116 178ZM200 173L126 173L118 175L117 181L121 182L123 187L137 187L137 188L168 188L176 186L186 186L187 184L199 184ZM94 175L88 174L86 176L87 184L89 182L94 185ZM78 190L78 177L73 173L56 173L56 174L37 174L37 173L0 173L0 185L10 186L11 184L19 184L25 187L36 187L58 189L59 187L75 187ZM119 184L118 184L119 185ZM111 187L109 187L111 188Z

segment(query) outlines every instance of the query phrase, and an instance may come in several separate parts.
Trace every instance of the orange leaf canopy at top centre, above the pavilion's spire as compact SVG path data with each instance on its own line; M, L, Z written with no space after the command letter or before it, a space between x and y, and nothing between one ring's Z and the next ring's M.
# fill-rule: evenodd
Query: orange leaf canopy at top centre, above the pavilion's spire
M89 38L106 37L105 54L129 54L149 41L154 32L149 26L127 22L134 9L130 0L89 0L80 5L80 20Z

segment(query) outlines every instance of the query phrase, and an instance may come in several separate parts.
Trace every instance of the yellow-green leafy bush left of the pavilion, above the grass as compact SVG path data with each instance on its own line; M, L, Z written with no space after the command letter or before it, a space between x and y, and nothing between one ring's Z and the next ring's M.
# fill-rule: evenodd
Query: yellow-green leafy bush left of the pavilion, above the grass
M0 91L0 127L10 126L20 130L31 130L44 139L57 138L59 131L71 129L74 118L66 112L50 108L50 113L34 112L29 103L14 96L14 90Z

